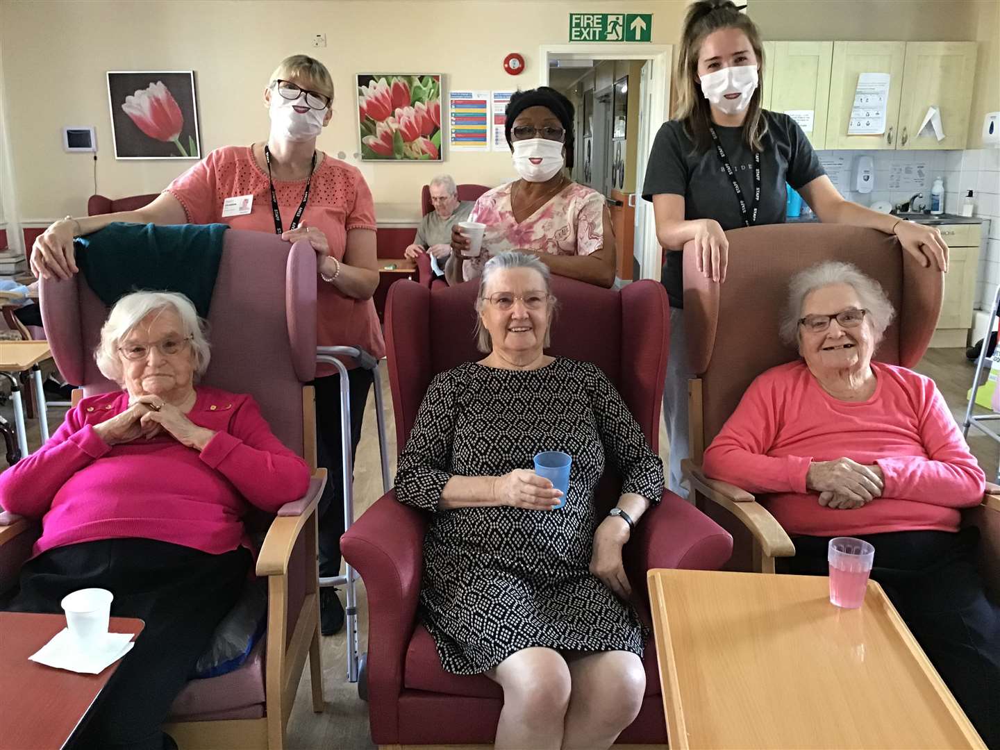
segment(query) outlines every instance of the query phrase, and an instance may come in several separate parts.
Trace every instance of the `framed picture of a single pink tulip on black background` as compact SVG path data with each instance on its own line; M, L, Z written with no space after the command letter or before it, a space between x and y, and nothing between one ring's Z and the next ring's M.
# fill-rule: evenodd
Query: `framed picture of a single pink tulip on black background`
M116 159L200 159L194 71L108 71Z

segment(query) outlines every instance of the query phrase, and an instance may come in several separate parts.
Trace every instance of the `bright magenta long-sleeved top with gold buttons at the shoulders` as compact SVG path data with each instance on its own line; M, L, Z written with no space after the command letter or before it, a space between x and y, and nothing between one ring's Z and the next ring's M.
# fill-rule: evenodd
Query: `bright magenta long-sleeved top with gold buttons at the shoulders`
M247 543L250 505L276 512L309 486L246 395L198 387L188 419L215 431L201 452L169 434L110 446L94 425L128 394L83 399L40 450L0 474L0 507L42 519L34 554L98 539L139 537L221 554Z

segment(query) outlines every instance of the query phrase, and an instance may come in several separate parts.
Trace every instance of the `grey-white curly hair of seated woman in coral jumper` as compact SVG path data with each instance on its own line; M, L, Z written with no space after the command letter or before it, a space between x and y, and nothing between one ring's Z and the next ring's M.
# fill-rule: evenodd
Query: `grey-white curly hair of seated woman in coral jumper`
M828 260L812 268L799 271L788 284L788 304L781 317L781 340L789 346L798 346L799 319L802 317L802 303L810 292L833 284L847 284L858 295L861 306L867 310L865 319L871 324L876 346L882 334L889 327L896 311L875 279L865 276L852 263Z

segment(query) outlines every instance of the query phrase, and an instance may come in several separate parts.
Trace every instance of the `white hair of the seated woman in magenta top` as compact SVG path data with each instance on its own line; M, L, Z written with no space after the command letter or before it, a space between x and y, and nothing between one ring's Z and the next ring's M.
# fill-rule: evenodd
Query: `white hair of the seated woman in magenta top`
M207 324L198 317L191 300L177 292L132 292L115 303L101 326L101 342L94 350L94 359L104 377L124 385L125 371L118 355L119 344L148 315L164 310L175 312L183 329L178 333L191 337L195 381L205 374L210 359Z

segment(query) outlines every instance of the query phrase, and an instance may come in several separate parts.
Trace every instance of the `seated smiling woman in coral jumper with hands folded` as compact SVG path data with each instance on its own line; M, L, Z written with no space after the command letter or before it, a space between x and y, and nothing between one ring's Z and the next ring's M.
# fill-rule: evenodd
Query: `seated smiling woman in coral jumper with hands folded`
M878 581L990 747L1000 747L1000 611L960 510L985 477L930 378L872 361L893 316L877 282L826 262L792 279L782 336L802 359L747 389L705 452L713 478L767 495L784 571L827 573L837 536L875 546Z

